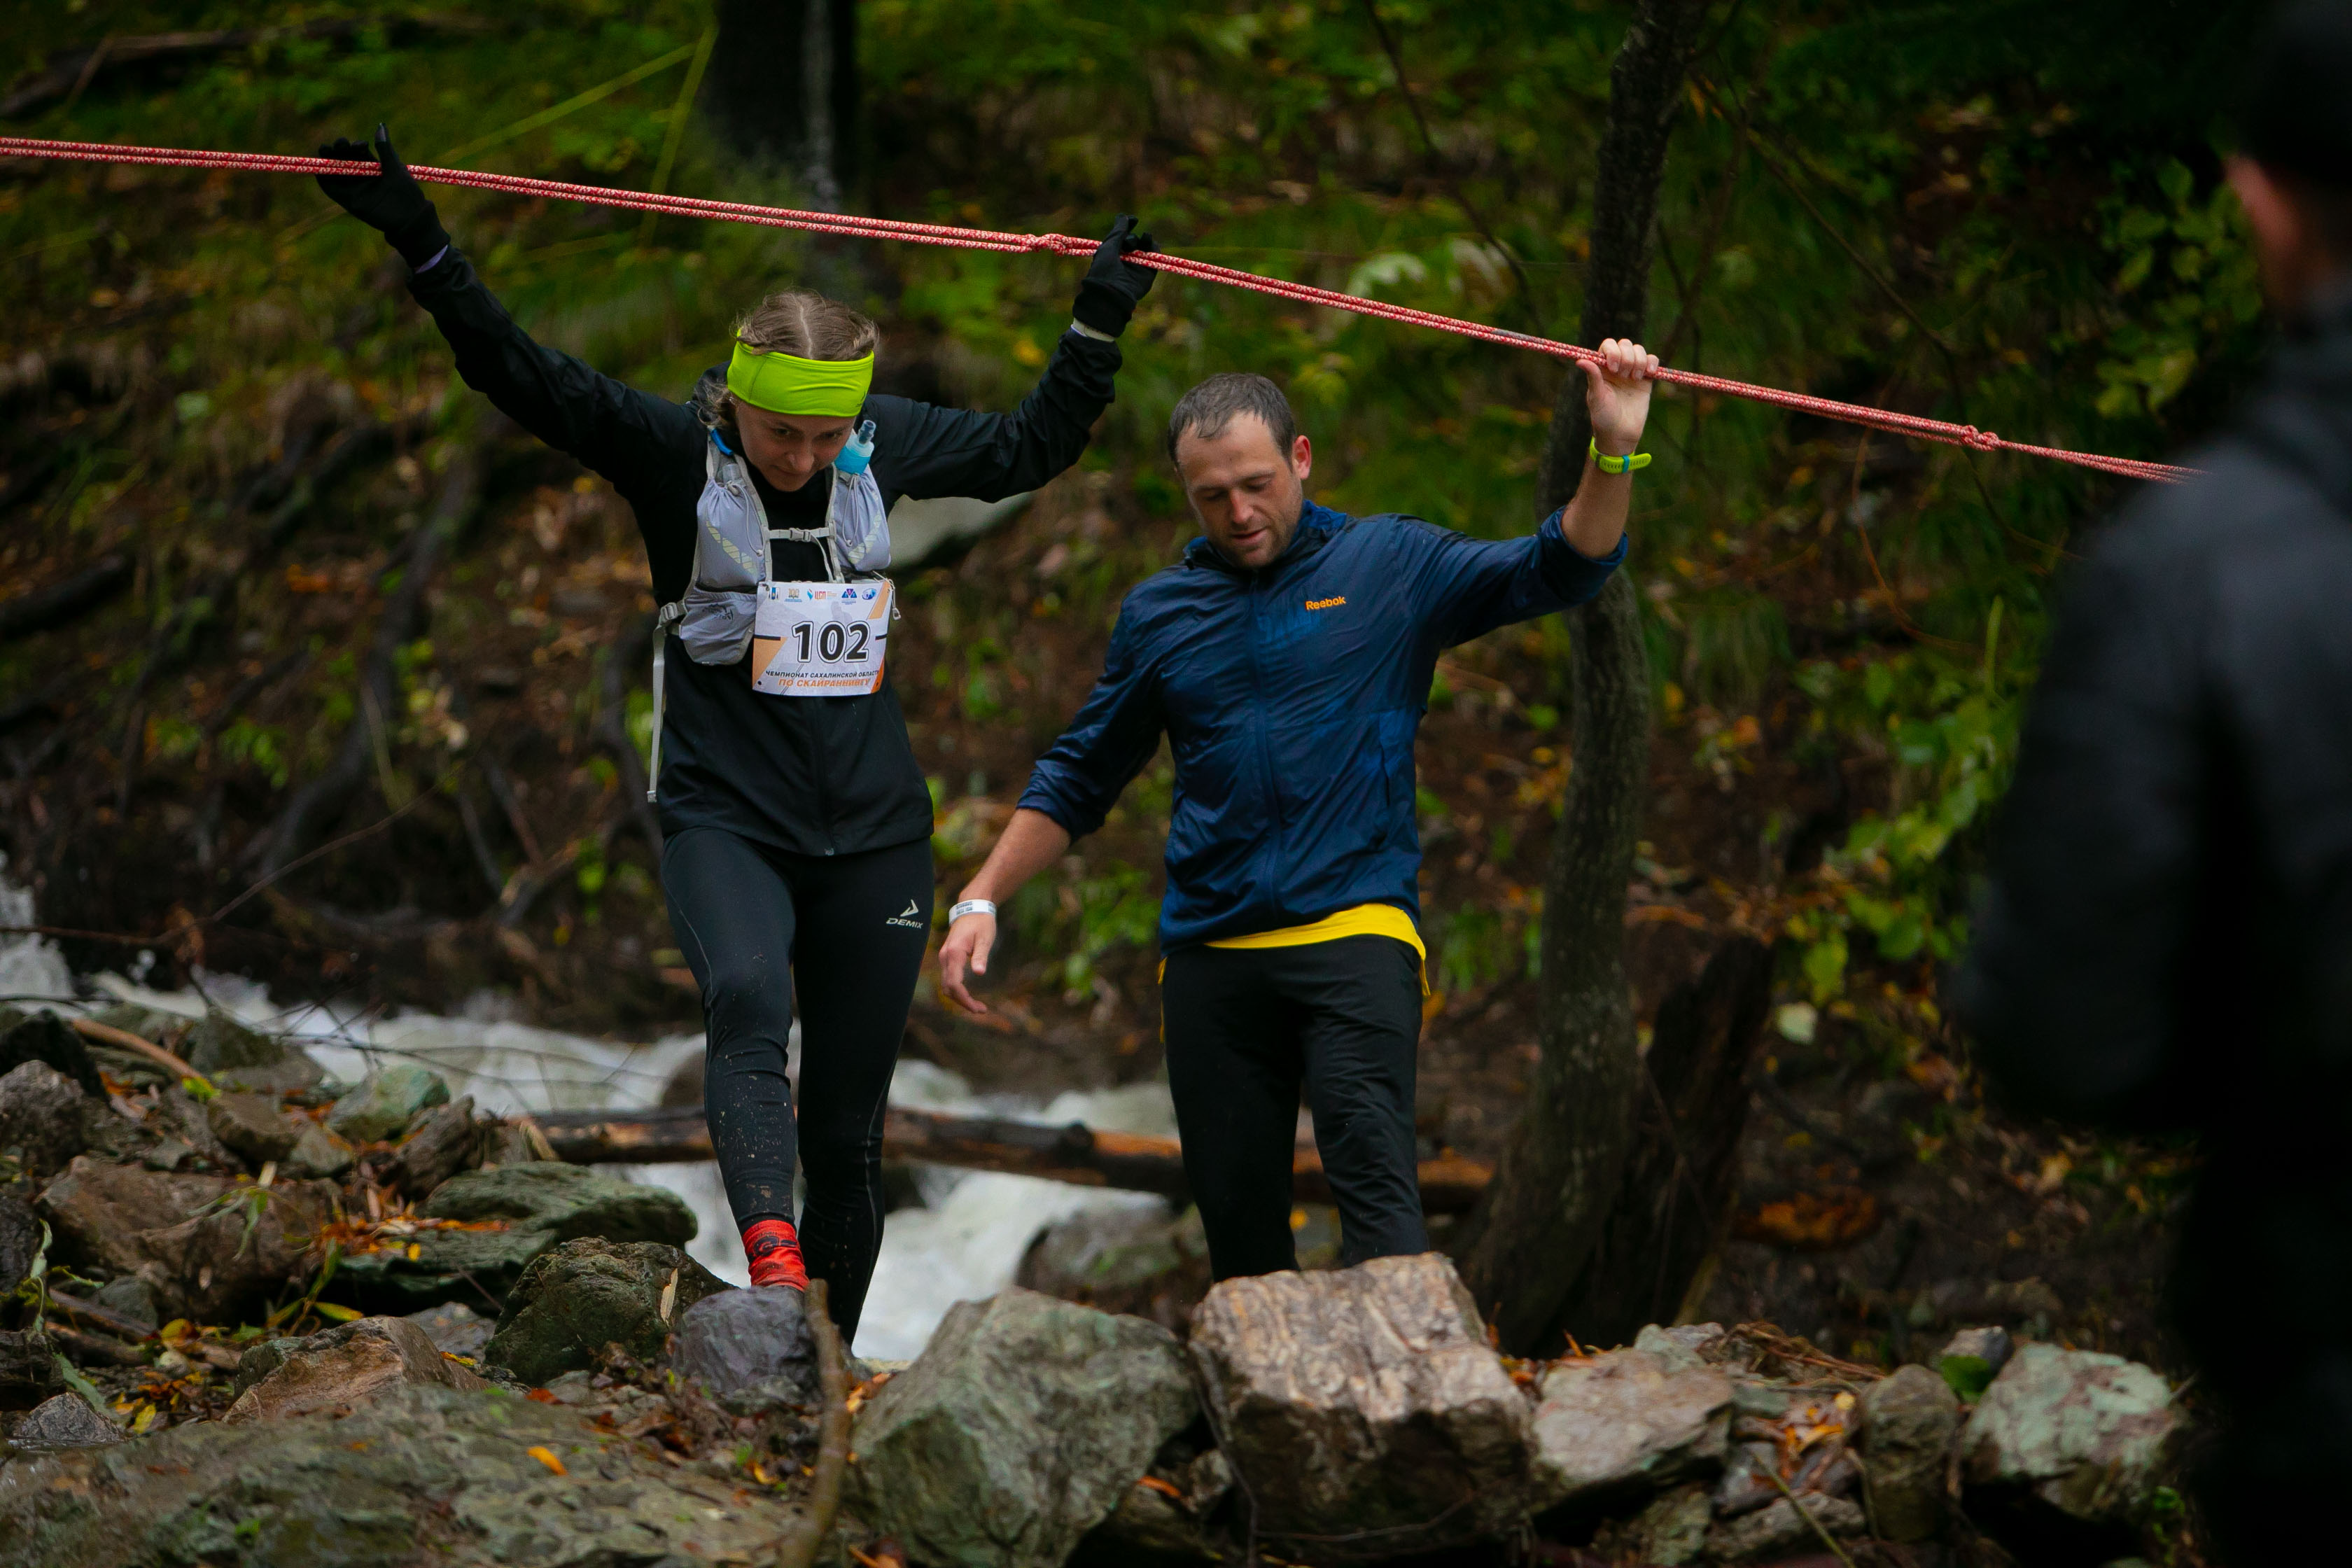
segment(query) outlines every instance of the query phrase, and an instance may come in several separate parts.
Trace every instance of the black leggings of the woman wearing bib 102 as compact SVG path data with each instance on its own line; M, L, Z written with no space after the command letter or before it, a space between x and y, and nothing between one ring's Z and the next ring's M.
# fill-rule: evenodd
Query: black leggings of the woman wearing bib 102
M793 1218L800 983L800 1251L849 1340L882 1251L882 1112L931 936L931 842L793 856L687 827L661 846L661 886L703 987L703 1107L739 1229Z

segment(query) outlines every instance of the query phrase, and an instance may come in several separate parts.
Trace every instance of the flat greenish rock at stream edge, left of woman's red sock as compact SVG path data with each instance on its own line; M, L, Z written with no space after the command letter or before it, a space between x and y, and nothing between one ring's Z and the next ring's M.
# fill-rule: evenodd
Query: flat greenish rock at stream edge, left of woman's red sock
M694 1211L675 1192L560 1161L463 1171L421 1211L473 1229L426 1229L407 1248L346 1258L336 1288L365 1312L423 1312L447 1300L496 1307L541 1253L581 1237L607 1241L694 1239Z

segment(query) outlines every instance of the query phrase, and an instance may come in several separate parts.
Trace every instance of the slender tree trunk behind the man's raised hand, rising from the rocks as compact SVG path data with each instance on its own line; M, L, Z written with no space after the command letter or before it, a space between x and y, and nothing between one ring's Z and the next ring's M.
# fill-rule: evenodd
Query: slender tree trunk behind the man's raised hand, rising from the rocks
M1609 68L1592 186L1581 343L1637 339L1649 313L1658 179L1703 0L1642 0ZM1538 505L1583 477L1592 423L1571 369L1552 404ZM1543 1354L1618 1199L1642 1060L1625 980L1625 884L1649 783L1649 658L1625 571L1571 614L1576 724L1569 799L1543 886L1543 1060L1526 1112L1463 1225L1463 1279L1503 1347Z

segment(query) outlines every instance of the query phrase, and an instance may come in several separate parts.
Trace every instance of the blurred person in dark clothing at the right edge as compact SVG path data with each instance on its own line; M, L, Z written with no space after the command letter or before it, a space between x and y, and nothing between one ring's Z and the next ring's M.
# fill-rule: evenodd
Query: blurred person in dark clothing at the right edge
M2020 1110L2194 1131L2171 1309L2225 1561L2352 1497L2352 2L2253 42L2230 183L2284 341L2072 569L1959 1009Z

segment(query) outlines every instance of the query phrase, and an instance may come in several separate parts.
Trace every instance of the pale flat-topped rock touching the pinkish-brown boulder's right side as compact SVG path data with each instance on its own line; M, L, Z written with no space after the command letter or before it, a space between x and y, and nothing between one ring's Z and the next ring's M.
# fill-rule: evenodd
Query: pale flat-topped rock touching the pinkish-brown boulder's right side
M1606 1502L1712 1469L1731 1432L1731 1378L1611 1349L1543 1375L1536 1486L1543 1507Z

